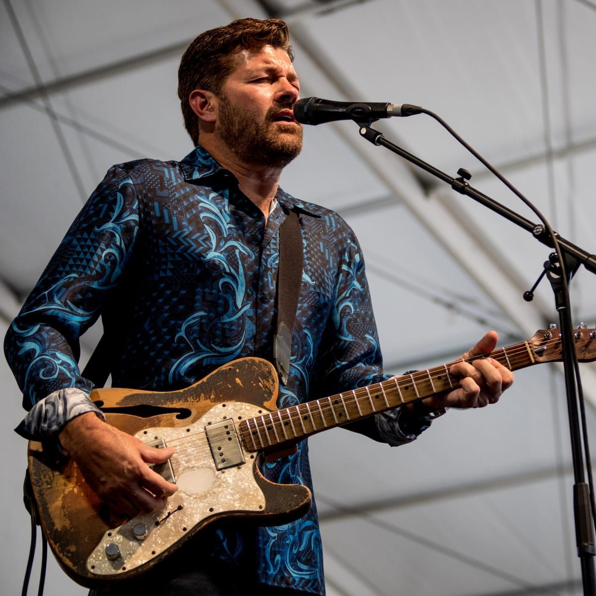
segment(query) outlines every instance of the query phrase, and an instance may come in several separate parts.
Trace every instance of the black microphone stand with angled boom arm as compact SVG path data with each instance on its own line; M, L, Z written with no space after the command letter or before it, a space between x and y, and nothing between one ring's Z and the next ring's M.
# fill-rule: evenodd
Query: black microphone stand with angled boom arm
M498 213L505 219L508 219L510 222L520 226L520 228L530 232L533 237L536 238L536 240L542 244L545 244L545 246L551 248L554 246L552 243L552 238L550 234L548 234L548 231L544 225L533 224L529 221L529 219L524 218L523 216L519 215L519 213L508 209L508 207L505 207L501 203L493 200L488 195L480 193L480 191L472 187L468 183L468 180L471 178L471 174L467 170L460 168L457 172L458 178L453 178L436 167L431 166L429 163L424 162L412 153L409 153L405 149L398 147L398 145L387 141L381 132L375 131L373 128L371 128L373 119L364 120L362 122L356 120L356 123L358 123L360 126L360 135L367 139L367 141L370 141L373 145L381 145L390 151L393 151L393 153L402 156L404 159L408 160L408 162L413 163L415 166L420 167L433 176L436 176L436 178L446 182L446 184L449 184L451 188L456 190L458 193L465 194L468 197L473 198L475 201L484 205L485 207L488 207L488 209L491 209L493 212ZM563 252L563 265L564 271L566 272L567 281L570 280L580 265L583 265L586 269L588 269L588 271L596 274L596 255L586 252L579 246L570 243L568 240L565 240L565 238L562 238L558 234L557 240ZM544 269L555 294L555 306L559 313L561 328L563 368L571 435L573 474L575 477L575 485L573 486L575 535L576 545L578 548L578 557L581 560L583 594L585 596L596 596L596 580L594 573L594 556L596 555L596 546L594 544L593 522L589 507L589 488L585 482L584 475L585 462L583 461L581 430L578 413L578 398L576 394L576 377L574 375L576 361L574 358L575 344L573 337L573 324L571 321L569 308L567 308L567 300L564 292L565 284L563 281L563 275L561 275L561 264L556 258L556 253L551 255L550 260L545 263ZM528 294L528 297L531 300L531 293L526 294ZM526 298L526 296L524 296L524 298ZM585 440L587 442L587 436L585 437Z

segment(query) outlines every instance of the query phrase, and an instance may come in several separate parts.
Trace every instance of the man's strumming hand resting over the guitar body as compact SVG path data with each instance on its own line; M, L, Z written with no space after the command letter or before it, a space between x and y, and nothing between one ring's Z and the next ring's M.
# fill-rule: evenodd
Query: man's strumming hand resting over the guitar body
M149 447L94 412L69 421L59 439L101 501L119 513L134 517L154 511L178 490L147 465L167 461L174 453L171 447Z

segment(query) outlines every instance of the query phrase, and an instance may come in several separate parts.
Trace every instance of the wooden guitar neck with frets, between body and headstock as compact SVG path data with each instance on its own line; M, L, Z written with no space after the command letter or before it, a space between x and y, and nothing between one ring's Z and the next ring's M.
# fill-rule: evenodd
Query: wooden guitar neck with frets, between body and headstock
M538 355L539 352L535 353ZM522 342L490 354L467 358L466 362L490 357L514 371L536 364L535 353L529 342ZM455 363L393 377L381 383L290 408L263 412L261 416L244 420L238 425L238 430L248 451L297 443L312 434L356 422L435 393L456 389L460 386L460 381L449 373L452 364Z

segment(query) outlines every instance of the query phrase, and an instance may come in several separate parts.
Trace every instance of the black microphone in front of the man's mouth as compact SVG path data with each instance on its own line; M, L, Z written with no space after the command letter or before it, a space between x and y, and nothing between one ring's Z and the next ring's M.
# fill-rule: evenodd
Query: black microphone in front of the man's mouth
M294 118L302 124L322 124L336 120L378 120L392 116L413 116L423 108L410 104L383 104L353 101L321 100L318 97L305 97L294 104Z

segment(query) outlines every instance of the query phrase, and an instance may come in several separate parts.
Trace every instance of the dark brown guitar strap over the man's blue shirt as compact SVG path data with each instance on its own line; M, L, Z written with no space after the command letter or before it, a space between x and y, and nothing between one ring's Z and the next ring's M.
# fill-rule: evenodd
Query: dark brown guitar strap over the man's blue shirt
M273 343L275 367L283 384L290 373L292 332L296 321L296 308L302 281L302 234L296 212L290 210L280 226L280 262L277 274L277 330ZM110 376L110 338L101 339L83 369L82 376L95 387L103 387Z

